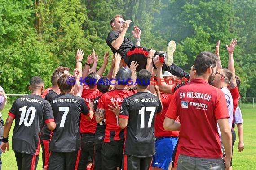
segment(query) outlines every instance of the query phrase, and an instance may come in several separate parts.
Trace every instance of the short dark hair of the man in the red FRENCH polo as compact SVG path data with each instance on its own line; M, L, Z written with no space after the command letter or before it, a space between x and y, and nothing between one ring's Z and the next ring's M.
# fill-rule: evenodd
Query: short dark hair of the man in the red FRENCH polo
M218 57L211 52L201 52L194 60L194 68L198 76L204 74L209 67L217 65Z

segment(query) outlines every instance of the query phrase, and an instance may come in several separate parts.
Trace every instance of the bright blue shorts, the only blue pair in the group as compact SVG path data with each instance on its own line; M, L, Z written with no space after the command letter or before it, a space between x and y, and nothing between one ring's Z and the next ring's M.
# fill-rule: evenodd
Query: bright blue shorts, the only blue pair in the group
M168 170L172 161L172 153L178 141L178 137L161 137L155 140L155 155L152 160L153 167Z

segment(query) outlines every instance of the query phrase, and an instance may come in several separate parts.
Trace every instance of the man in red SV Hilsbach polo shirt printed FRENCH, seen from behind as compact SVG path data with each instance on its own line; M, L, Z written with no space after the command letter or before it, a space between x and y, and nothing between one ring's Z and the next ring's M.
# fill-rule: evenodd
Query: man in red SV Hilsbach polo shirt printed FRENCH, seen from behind
M195 79L177 89L167 110L163 127L180 131L178 170L224 169L224 162L226 169L230 166L232 136L225 96L208 83L215 75L217 60L210 52L200 53L194 61ZM175 121L177 116L180 122ZM224 162L217 122L226 151Z

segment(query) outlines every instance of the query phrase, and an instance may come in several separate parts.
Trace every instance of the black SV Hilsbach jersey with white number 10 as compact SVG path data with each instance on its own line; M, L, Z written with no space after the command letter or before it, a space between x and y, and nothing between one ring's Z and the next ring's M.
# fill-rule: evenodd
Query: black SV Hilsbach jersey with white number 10
M40 129L44 122L54 121L50 103L39 95L22 96L13 103L9 116L15 118L13 150L38 155Z

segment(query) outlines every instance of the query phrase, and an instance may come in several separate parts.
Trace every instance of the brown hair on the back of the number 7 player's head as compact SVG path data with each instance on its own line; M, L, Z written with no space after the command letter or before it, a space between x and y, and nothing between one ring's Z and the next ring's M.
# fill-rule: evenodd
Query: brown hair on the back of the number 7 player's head
M71 79L70 77L73 78ZM57 82L61 93L70 93L75 85L75 77L72 74L63 74Z

